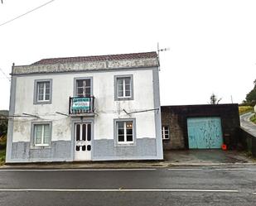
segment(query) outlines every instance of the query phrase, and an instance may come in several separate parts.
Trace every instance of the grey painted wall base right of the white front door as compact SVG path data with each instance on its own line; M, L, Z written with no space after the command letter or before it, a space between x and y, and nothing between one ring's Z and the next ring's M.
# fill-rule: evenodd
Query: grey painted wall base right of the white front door
M92 160L159 160L155 138L138 138L134 146L114 146L113 139L94 140Z

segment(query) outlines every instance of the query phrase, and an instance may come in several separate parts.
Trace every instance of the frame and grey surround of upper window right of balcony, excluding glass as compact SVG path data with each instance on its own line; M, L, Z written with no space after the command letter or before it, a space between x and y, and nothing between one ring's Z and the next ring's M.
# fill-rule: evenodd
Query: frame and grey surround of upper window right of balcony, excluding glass
M130 80L130 95L126 96L125 90L125 79ZM118 80L123 80L123 95L119 96L118 93ZM114 100L115 101L123 101L123 100L133 100L133 74L125 74L125 75L115 75L114 76Z

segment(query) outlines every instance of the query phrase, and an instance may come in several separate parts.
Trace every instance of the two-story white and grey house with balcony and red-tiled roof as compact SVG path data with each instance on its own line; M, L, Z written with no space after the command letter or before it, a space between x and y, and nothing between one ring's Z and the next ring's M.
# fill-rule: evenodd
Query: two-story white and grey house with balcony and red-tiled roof
M161 160L156 52L12 66L7 162Z

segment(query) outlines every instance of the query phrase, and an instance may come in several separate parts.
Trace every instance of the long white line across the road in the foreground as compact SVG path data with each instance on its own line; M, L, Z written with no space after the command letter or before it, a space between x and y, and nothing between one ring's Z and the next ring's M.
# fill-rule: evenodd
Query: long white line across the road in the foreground
M207 192L239 193L232 189L0 189L0 192Z

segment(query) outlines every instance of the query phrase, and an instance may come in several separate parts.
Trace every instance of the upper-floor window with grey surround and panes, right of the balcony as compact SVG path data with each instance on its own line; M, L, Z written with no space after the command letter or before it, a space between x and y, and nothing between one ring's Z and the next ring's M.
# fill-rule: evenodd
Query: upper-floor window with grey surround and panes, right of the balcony
M114 99L133 99L133 75L114 76Z

